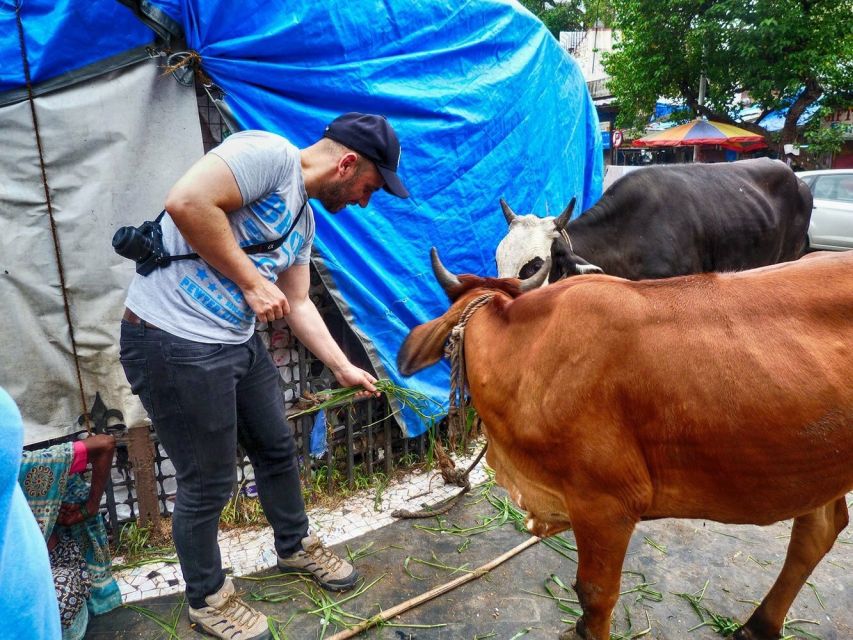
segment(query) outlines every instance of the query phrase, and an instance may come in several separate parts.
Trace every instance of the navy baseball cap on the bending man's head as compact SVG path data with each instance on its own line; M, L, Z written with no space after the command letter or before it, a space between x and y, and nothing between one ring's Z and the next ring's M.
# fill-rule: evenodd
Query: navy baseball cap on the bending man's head
M345 113L326 126L323 137L339 142L373 162L385 180L385 191L398 198L409 197L409 190L397 175L400 141L385 116Z

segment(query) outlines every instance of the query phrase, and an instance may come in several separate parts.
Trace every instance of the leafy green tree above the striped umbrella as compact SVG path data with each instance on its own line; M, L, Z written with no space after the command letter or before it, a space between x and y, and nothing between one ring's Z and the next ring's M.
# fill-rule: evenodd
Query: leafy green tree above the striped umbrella
M735 123L747 93L762 111L737 123L745 129L766 136L764 117L788 108L781 147L797 141L797 120L816 101L853 103L850 0L622 0L613 26L621 42L604 66L621 126L642 127L658 97Z

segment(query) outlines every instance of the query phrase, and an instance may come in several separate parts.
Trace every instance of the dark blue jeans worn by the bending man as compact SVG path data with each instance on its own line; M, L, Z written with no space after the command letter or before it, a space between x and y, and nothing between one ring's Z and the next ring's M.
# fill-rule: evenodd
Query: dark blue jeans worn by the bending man
M255 471L275 549L287 556L308 532L296 443L280 378L260 336L207 344L121 323L120 358L175 467L172 535L193 608L225 581L219 516L237 476L237 442Z

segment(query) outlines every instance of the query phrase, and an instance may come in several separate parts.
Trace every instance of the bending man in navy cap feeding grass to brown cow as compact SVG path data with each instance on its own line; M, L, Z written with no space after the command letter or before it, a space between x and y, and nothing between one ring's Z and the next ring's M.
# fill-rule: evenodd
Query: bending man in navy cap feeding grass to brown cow
M384 188L405 198L400 144L388 121L348 113L298 149L281 136L243 131L193 165L172 187L162 220L169 255L196 253L128 291L121 361L178 482L172 530L187 585L190 619L215 637L268 635L266 617L234 593L222 570L219 516L236 474L236 444L249 455L282 571L346 590L359 576L308 533L294 438L279 376L255 322L286 318L291 331L343 386L376 393L308 297L314 211L366 206ZM283 238L248 254L244 247Z

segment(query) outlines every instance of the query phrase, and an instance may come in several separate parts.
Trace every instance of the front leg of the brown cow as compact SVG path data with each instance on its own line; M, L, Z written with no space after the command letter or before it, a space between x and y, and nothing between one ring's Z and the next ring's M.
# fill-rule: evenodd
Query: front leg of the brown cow
M583 615L560 640L609 640L610 614L619 599L622 562L637 520L618 509L589 504L572 521L578 546L575 591Z

